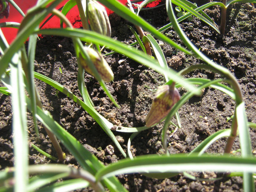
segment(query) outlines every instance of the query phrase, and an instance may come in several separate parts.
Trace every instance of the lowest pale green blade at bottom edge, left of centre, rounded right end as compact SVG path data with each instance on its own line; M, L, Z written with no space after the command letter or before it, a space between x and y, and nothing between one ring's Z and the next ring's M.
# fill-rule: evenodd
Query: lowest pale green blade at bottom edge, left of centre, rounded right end
M54 192L69 192L76 189L86 188L89 186L89 182L81 178L69 179L61 182L51 184L47 187L37 189L37 192L54 191Z

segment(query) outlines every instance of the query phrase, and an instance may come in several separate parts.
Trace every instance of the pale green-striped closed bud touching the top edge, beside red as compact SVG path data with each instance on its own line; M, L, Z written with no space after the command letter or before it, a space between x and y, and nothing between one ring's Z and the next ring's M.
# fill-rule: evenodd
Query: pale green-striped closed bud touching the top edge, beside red
M111 36L109 17L103 5L97 1L90 0L87 5L87 14L93 31Z

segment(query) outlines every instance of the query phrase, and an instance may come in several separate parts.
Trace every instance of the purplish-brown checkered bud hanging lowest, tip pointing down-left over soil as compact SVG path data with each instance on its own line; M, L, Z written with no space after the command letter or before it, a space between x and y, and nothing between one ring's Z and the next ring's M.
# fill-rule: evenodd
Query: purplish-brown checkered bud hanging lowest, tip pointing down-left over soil
M151 109L146 117L146 126L151 127L161 121L178 100L180 100L180 94L175 87L170 85L159 86L157 93L155 93Z

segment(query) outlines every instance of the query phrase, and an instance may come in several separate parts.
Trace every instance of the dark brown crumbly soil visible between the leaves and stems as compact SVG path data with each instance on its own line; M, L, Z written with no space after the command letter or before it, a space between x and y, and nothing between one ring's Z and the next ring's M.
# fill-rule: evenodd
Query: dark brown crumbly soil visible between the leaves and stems
M197 2L197 5L208 1ZM206 13L219 25L219 8L212 7ZM165 6L154 10L142 11L140 15L148 20L154 27L166 25L168 17ZM227 12L226 34L222 37L214 29L207 26L197 18L181 23L182 29L200 48L206 56L218 64L228 68L238 79L241 85L246 114L250 122L256 123L256 94L255 94L255 47L256 47L256 9L251 4L231 5ZM110 15L112 25L112 37L127 44L135 41L129 30L131 25L116 14ZM177 34L168 29L164 32L174 41L182 44ZM180 71L192 65L200 64L201 61L173 49L161 41L159 45L166 56L168 65ZM140 127L145 125L145 118L150 109L154 93L158 86L165 83L162 75L147 67L136 63L120 54L112 54L106 57L114 72L114 81L107 86L120 109L114 107L110 99L106 97L99 83L89 74L85 75L85 83L95 104L95 108L115 124L125 127ZM60 69L62 74L60 73ZM77 64L71 39L63 37L43 36L37 43L35 58L35 71L56 80L68 90L81 98L77 85ZM185 77L203 77L216 79L221 76L210 71L196 70ZM36 80L39 94L46 110L54 120L71 133L87 150L96 155L105 165L122 159L123 156L114 146L112 140L106 135L94 119L74 101L64 94L56 92L51 86ZM180 95L186 90L180 88ZM205 89L201 97L193 97L183 105L180 110L182 128L172 134L175 127L169 127L169 153L189 153L199 143L214 132L230 128L232 120L227 121L233 115L235 102L226 94L214 89ZM0 94L0 169L13 166L13 144L11 128L11 98ZM176 123L175 118L172 119ZM29 124L29 140L47 153L57 157L56 152L49 142L46 132L39 123L40 140L35 138L31 118ZM132 141L133 155L163 154L161 144L161 129L163 123L141 132ZM256 130L251 129L253 154L256 154ZM128 133L115 132L116 138L124 150L127 150ZM207 149L207 153L223 153L226 139L220 139ZM110 150L110 146L114 147ZM63 146L62 146L63 147ZM239 139L235 140L232 151L239 149ZM65 164L78 165L75 158L63 147L67 154ZM237 152L239 154L239 152ZM30 164L56 163L44 155L39 154L30 147ZM79 166L79 165L78 165ZM191 173L199 178L216 178L222 176L212 172ZM223 178L218 181L193 181L181 174L172 178L153 179L140 174L121 175L118 179L129 191L242 191L242 178ZM79 190L78 190L79 191ZM92 191L82 189L80 191Z

